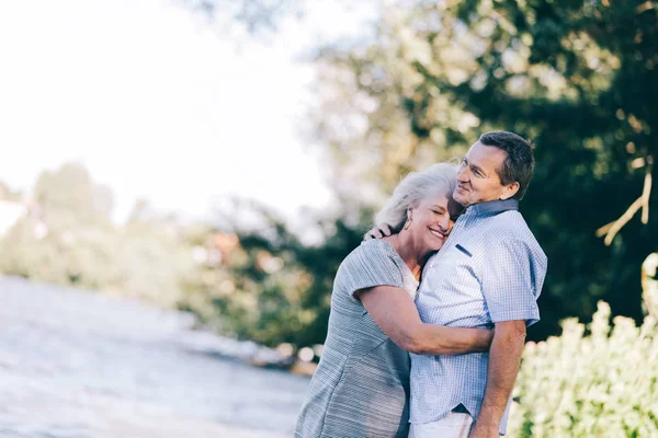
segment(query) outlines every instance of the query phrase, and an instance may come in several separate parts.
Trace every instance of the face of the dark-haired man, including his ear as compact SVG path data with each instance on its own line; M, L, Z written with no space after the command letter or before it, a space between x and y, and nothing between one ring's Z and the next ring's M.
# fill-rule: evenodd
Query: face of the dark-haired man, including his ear
M509 199L519 189L518 183L502 185L498 170L507 159L507 152L479 141L470 147L457 173L454 199L468 207L495 199Z

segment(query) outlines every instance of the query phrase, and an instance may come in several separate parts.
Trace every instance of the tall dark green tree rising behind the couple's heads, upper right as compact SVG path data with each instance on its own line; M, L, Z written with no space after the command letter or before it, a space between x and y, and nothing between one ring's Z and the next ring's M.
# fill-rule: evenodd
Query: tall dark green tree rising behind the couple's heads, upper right
M392 2L374 38L318 53L317 135L339 189L363 183L371 199L411 169L461 155L483 131L532 138L537 166L522 212L549 270L544 323L531 335L590 318L600 299L639 318L655 216L631 220L611 246L594 232L640 197L651 172L657 33L653 2Z

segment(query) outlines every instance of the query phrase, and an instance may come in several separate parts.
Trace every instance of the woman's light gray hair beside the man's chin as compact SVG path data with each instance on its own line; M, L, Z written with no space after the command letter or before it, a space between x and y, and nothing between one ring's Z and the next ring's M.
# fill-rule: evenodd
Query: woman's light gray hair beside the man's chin
M423 199L439 194L445 194L450 199L456 185L457 168L458 164L454 162L438 163L423 172L409 173L375 215L375 227L389 227L392 233L398 233L407 221L409 208L415 208Z

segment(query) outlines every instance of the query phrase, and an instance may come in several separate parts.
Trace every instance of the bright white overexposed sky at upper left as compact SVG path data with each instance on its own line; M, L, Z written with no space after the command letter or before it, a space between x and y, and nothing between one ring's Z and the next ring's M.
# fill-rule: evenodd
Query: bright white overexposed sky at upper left
M358 34L364 14L313 4L240 47L172 0L1 1L0 181L29 189L80 161L112 187L117 218L139 197L185 216L226 195L288 217L327 206L298 134L313 70L296 57L318 35Z

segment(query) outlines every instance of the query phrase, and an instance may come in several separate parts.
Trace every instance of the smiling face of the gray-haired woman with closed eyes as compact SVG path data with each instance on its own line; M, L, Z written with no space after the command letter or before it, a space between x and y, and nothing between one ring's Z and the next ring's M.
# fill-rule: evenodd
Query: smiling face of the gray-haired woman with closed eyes
M407 231L419 251L427 253L443 246L454 224L450 207L447 196L441 194L421 200L411 209L411 223Z

